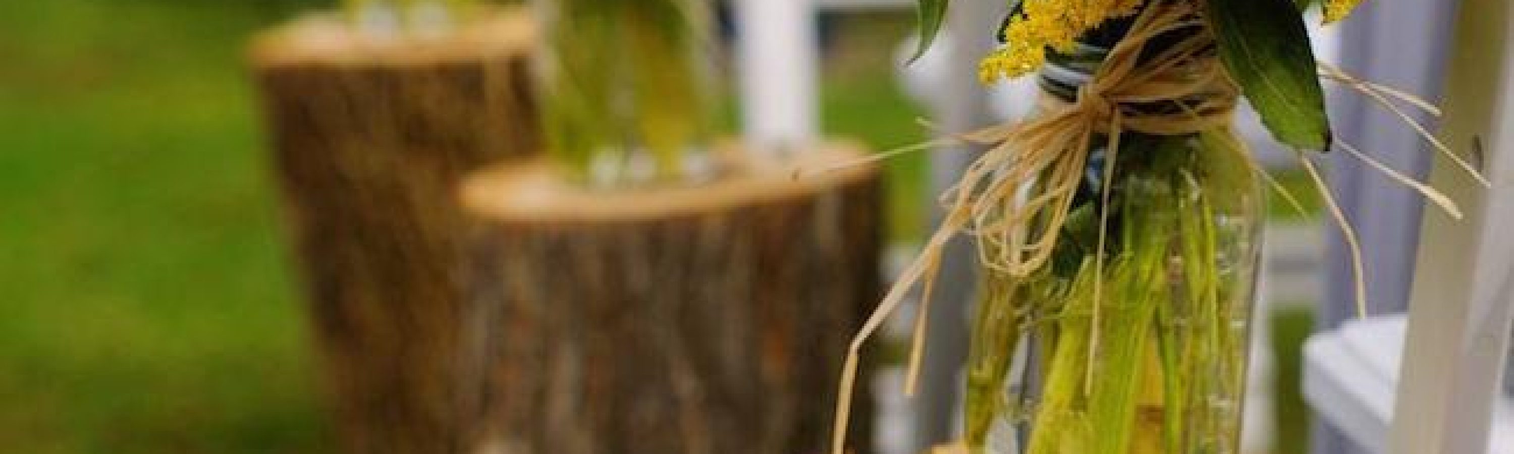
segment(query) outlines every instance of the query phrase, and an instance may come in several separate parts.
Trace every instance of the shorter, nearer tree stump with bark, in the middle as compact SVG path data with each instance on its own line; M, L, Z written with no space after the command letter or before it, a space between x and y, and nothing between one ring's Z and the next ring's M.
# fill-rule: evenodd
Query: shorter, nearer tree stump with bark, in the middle
M486 451L824 452L880 295L880 192L871 166L793 174L855 148L802 156L728 154L718 183L643 192L584 192L545 165L469 179Z

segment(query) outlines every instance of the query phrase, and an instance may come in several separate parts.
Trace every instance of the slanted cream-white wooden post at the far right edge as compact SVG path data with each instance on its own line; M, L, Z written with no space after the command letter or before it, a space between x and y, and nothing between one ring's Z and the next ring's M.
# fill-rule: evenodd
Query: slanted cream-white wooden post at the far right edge
M1446 159L1431 182L1463 204L1426 210L1410 301L1391 449L1485 452L1514 319L1514 21L1509 0L1464 0L1443 136L1493 180L1478 186Z

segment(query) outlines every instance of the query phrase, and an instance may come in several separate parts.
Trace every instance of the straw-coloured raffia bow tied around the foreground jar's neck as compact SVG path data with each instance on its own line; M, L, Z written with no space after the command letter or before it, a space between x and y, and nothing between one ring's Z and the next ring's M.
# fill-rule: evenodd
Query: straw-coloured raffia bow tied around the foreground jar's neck
M1148 42L1169 32L1190 35L1157 54L1142 54ZM1034 120L964 135L963 141L992 148L969 165L946 192L942 225L852 339L836 404L833 452L842 454L845 448L863 344L916 285L927 289L921 295L921 319L925 318L930 289L951 238L958 233L974 236L986 268L1028 275L1051 259L1083 180L1089 151L1099 135L1107 141L1105 171L1110 173L1123 132L1190 135L1226 127L1238 97L1238 89L1214 58L1214 38L1202 27L1193 6L1187 2L1151 2L1090 82L1078 89L1075 101L1048 95L1042 100L1043 114ZM1034 191L1028 197L1017 197L1031 185ZM1108 197L1110 186L1105 182L1104 197ZM907 395L913 395L917 386L924 322L916 324L914 334Z

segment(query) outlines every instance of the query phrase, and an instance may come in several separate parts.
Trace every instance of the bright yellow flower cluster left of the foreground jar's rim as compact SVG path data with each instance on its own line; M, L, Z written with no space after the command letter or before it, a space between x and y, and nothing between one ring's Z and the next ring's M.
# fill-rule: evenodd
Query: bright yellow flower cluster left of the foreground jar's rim
M993 83L1019 77L1046 62L1046 48L1072 50L1078 36L1116 17L1134 14L1145 0L1023 0L1010 18L1005 44L978 65L978 79ZM1360 0L1334 0L1360 2Z

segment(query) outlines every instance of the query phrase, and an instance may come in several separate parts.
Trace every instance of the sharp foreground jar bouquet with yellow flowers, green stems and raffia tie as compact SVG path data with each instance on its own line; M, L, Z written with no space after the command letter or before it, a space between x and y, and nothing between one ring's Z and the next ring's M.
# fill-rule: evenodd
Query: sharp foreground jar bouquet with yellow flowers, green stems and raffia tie
M924 319L945 244L967 235L981 288L966 365L966 433L954 449L1237 452L1263 183L1270 180L1234 132L1241 98L1278 142L1297 150L1354 251L1352 229L1311 160L1316 151L1346 150L1458 213L1432 188L1332 136L1322 80L1378 100L1449 154L1402 104L1432 106L1316 62L1308 3L1011 5L998 32L1002 45L980 74L984 83L1034 74L1039 114L955 138L987 151L943 197L940 229L852 344L837 427L846 424L861 342L916 285L924 286ZM1325 20L1341 20L1355 3L1326 2ZM946 8L946 0L921 0L921 51ZM913 392L914 380L907 381ZM836 452L843 445L837 436Z

